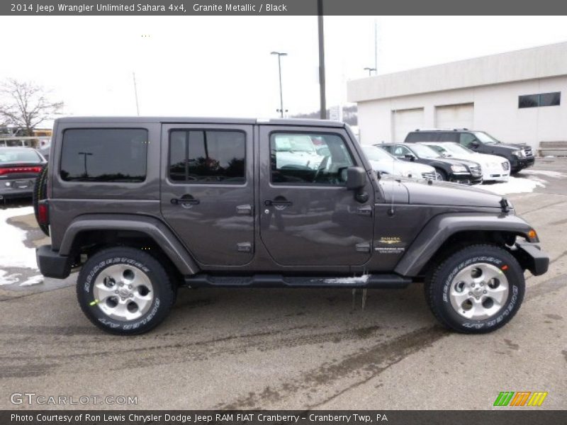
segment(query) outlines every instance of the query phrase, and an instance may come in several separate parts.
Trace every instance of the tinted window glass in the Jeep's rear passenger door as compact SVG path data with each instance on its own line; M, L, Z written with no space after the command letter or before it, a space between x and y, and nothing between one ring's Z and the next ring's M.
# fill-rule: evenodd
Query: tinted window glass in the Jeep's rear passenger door
M246 136L240 131L172 130L169 179L185 183L244 183Z

